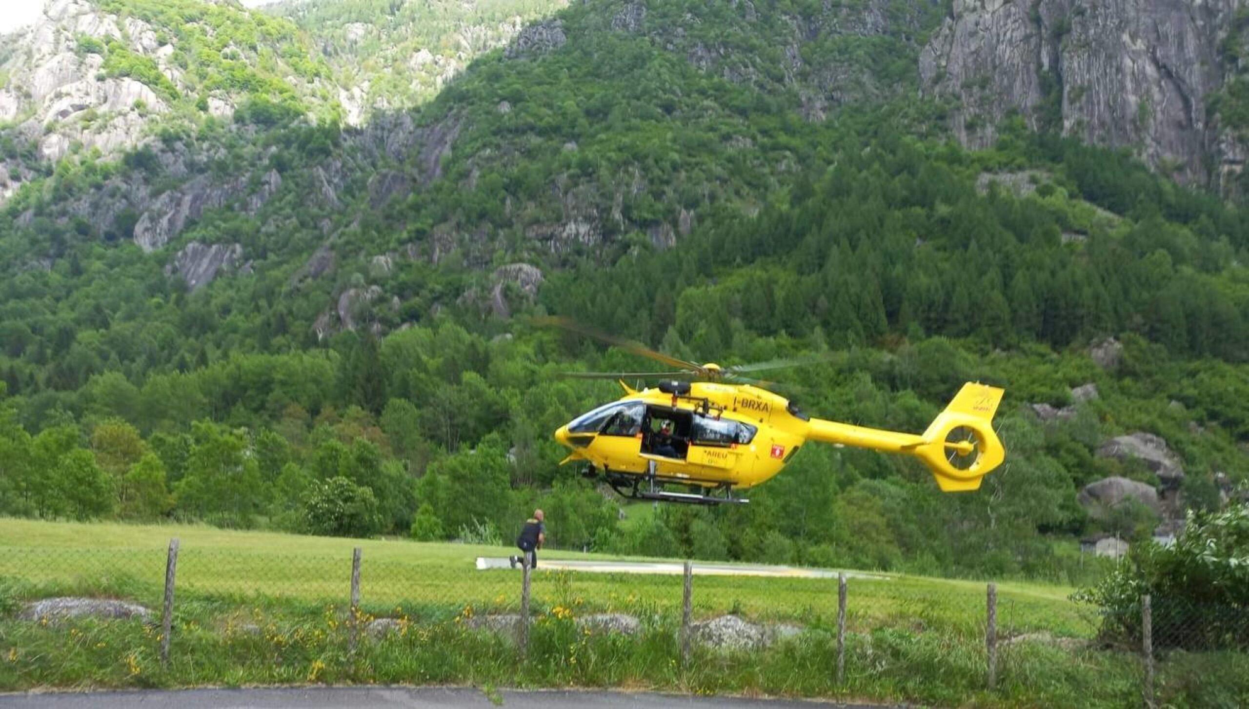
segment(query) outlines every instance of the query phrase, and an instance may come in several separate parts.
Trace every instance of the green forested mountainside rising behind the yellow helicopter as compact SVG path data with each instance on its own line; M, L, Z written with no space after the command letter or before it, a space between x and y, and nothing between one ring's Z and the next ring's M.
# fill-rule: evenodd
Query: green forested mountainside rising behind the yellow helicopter
M119 159L17 169L0 511L480 538L541 502L566 547L1060 578L1078 535L1237 494L1239 203L1020 115L962 147L921 97L939 4L556 5L89 4L272 37L225 42L256 76L231 114L187 70L185 120ZM267 84L275 51L310 79ZM622 521L551 441L618 388L557 373L639 362L537 313L698 361L829 352L786 381L872 426L993 382L1008 463L943 497L807 447L747 508Z

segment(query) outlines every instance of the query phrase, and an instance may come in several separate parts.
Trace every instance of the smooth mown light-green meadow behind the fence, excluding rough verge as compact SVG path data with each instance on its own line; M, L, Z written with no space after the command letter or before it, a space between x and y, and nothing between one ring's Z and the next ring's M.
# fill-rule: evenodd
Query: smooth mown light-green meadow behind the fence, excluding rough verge
M362 548L361 595L366 608L447 604L513 608L520 574L476 570L477 557L506 557L502 547L355 540L199 526L126 526L0 519L0 575L37 588L91 587L100 578L125 578L140 599L155 603L165 575L171 537L180 539L179 590L195 595L261 594L326 603L347 598L353 547ZM543 552L545 558L603 558L576 552ZM616 557L613 557L616 558ZM852 579L851 628L892 623L934 624L965 634L984 628L985 584L970 580L874 574ZM146 582L146 583L145 583ZM681 579L667 575L542 572L533 578L535 600L595 610L629 607L677 610ZM1090 637L1087 610L1068 600L1067 587L999 583L998 624L1004 632L1050 630ZM836 613L833 579L698 577L698 615L728 610L752 618L827 620Z

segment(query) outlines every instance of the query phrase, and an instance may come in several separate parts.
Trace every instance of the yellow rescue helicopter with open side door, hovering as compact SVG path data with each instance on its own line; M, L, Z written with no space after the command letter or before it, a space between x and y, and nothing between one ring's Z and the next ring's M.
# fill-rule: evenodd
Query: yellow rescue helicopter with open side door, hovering
M793 459L807 441L914 456L943 492L974 491L1002 464L1005 448L993 431L1003 391L963 384L921 434L812 418L747 373L813 363L778 359L721 367L697 364L565 318L540 318L673 367L669 372L568 372L575 378L620 381L624 396L583 413L555 433L585 461L586 477L602 474L616 492L636 499L721 504L749 502L737 491L757 486ZM627 378L661 378L641 391ZM672 492L681 486L697 492Z

